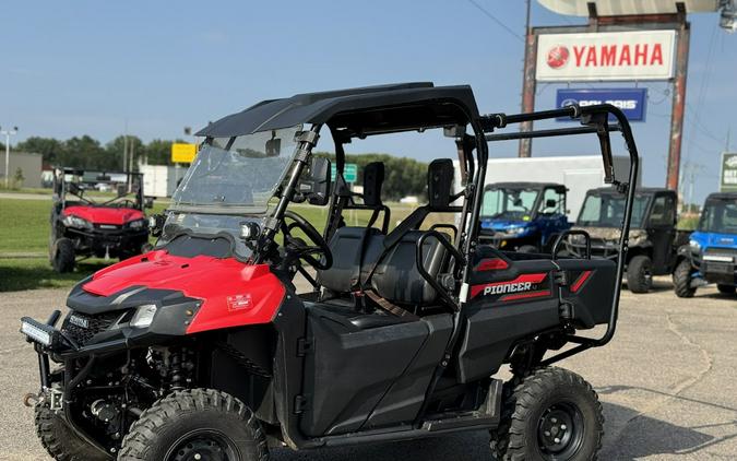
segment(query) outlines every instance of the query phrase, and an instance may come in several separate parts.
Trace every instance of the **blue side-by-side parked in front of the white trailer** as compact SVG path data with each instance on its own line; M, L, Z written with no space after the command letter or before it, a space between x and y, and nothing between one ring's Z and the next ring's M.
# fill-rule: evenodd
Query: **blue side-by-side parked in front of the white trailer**
M504 250L545 251L557 235L571 228L566 216L566 186L548 182L487 185L479 239Z

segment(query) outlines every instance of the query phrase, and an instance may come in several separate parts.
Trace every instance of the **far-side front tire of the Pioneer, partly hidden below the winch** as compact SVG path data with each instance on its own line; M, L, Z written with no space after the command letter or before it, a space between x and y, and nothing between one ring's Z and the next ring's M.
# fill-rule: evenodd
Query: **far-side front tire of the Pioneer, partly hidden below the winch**
M55 460L102 461L110 459L80 438L59 415L45 404L36 405L35 423L36 435Z

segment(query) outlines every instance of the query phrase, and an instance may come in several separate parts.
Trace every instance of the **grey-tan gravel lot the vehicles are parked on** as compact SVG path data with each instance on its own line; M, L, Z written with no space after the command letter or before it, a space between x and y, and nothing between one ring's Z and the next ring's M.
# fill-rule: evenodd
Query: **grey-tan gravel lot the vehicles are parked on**
M24 315L43 319L62 306L66 289L0 295L0 460L47 460L21 399L38 387L36 358L17 332ZM602 460L737 459L737 298L713 288L675 297L667 281L649 295L622 296L614 342L560 365L583 375L604 403ZM488 437L464 434L423 441L334 449L297 460L488 461Z

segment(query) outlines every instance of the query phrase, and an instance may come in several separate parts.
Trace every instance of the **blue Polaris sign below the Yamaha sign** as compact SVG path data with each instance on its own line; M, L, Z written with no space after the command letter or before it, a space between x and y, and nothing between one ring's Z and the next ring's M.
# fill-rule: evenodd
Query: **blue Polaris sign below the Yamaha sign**
M611 104L621 109L629 121L644 121L647 105L647 88L586 88L586 90L558 90L556 107L562 108L578 104L579 106L594 106L596 104ZM559 121L571 119L559 118ZM609 116L610 121L615 121Z

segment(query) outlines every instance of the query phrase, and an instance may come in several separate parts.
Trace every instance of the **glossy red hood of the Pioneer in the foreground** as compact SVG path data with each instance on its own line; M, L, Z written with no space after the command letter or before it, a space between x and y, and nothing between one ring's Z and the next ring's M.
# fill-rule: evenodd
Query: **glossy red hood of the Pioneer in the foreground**
M129 286L174 289L202 299L188 333L269 323L285 294L282 282L265 264L207 256L182 258L163 250L103 269L83 288L110 296Z

